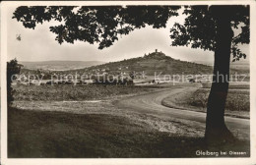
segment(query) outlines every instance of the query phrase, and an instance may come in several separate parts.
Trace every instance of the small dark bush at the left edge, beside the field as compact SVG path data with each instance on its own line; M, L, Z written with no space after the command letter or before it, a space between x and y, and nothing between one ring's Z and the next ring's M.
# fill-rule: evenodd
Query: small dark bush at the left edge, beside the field
M12 81L16 79L15 75L20 74L21 65L18 64L16 59L7 62L7 102L8 105L11 105L14 100L15 90L12 87Z

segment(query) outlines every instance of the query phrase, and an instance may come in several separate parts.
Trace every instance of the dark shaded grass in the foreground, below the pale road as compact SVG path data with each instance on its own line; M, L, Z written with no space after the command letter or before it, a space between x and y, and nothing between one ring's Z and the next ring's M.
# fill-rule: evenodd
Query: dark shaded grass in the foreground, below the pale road
M151 123L150 126L168 123L171 128L177 128L177 132L160 132L150 127ZM178 134L180 132L182 134ZM242 150L247 153L244 156L250 155L249 141L207 146L204 130L197 132L182 123L146 115L130 118L10 108L8 157L200 157L196 155L197 150Z

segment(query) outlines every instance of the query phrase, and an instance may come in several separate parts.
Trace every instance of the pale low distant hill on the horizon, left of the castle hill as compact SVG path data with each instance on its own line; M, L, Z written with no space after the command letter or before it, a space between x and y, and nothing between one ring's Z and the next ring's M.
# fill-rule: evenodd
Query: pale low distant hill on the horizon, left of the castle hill
M39 61L39 62L20 62L25 69L29 70L50 70L50 71L68 71L83 69L95 65L103 64L100 61Z

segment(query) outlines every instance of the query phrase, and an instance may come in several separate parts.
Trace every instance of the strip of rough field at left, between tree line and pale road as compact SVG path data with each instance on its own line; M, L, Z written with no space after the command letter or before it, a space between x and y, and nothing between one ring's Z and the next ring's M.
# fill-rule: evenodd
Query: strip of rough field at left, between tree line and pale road
M154 88L116 85L15 85L15 100L96 100L154 91Z

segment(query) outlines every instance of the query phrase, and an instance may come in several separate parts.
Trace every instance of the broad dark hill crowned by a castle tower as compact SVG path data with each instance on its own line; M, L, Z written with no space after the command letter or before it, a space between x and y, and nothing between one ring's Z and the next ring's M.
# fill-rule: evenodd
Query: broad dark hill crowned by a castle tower
M78 73L98 73L104 72L109 74L118 73L146 73L147 76L154 76L155 72L165 75L184 74L184 75L197 75L197 74L212 74L213 67L203 64L196 64L186 61L175 60L166 56L162 52L153 52L145 54L144 57L125 59L118 62L110 62L102 65L97 65L81 70L74 70Z

